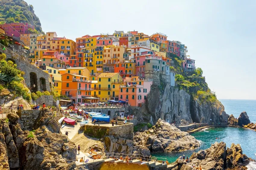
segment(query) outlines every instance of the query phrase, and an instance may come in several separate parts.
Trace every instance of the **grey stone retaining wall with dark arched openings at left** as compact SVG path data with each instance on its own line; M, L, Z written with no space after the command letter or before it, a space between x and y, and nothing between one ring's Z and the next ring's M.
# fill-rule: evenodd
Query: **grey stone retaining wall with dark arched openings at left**
M1 52L2 51L0 51L0 53ZM23 78L27 87L31 88L32 91L51 91L53 83L50 75L33 66L26 57L14 57L10 54L6 54L6 60L13 61L17 64L17 68L25 72ZM36 85L35 88L33 88L33 84Z

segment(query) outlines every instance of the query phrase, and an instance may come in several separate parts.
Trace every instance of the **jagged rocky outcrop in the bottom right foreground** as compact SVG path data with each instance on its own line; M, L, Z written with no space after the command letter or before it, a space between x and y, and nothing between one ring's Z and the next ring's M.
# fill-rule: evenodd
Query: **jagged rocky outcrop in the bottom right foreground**
M200 150L197 153L193 153L189 160L189 163L185 163L180 157L173 165L178 164L176 168L178 170L190 170L193 165L195 168L201 166L202 169L242 170L247 169L245 166L251 159L242 154L239 144L232 144L230 148L226 149L224 142L216 142L207 150Z

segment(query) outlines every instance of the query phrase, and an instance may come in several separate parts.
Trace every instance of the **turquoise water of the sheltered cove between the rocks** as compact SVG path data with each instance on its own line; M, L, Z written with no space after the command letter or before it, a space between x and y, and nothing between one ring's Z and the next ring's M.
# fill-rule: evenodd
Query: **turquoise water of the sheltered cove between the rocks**
M245 128L208 128L206 133L204 131L195 132L192 134L199 142L200 147L195 150L186 150L183 152L170 152L170 153L152 153L152 156L167 158L168 162L174 162L179 156L185 155L190 157L193 152L201 149L211 147L211 144L217 142L225 142L226 147L230 147L232 143L240 144L243 153L252 159L256 159L256 132ZM220 139L216 139L220 138Z

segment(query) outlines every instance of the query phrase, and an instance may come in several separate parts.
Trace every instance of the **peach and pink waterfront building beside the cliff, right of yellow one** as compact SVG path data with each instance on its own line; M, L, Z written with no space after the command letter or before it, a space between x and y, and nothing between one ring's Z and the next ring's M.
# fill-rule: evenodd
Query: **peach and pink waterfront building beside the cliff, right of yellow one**
M133 109L142 107L153 81L139 76L126 77L123 81L124 85L119 88L120 100L126 101Z

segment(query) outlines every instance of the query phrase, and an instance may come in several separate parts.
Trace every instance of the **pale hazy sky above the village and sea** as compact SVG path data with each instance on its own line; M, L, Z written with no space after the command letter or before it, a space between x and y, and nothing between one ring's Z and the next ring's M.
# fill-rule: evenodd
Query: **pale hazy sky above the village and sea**
M256 1L25 0L44 32L73 39L136 30L188 47L218 99L256 99Z

